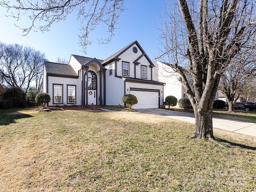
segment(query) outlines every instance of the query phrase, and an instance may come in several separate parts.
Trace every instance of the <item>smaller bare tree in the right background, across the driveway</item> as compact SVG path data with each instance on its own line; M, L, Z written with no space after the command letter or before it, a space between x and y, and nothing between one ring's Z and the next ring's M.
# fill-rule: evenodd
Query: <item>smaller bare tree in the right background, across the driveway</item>
M221 77L218 89L226 96L228 112L234 112L235 102L243 92L251 89L247 85L255 81L255 51L255 49L240 51Z

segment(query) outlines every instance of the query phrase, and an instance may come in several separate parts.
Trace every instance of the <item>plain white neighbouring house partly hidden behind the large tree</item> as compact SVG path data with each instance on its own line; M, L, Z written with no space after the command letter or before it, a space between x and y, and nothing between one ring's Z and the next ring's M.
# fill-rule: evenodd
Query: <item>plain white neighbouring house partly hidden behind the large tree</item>
M175 72L170 64L156 61L155 68L153 69L153 80L164 82L164 100L166 96L175 96L178 100L186 97L184 87L178 80L180 74ZM188 78L188 77L187 77ZM189 78L188 78L189 79ZM218 92L216 93L215 100L218 100Z

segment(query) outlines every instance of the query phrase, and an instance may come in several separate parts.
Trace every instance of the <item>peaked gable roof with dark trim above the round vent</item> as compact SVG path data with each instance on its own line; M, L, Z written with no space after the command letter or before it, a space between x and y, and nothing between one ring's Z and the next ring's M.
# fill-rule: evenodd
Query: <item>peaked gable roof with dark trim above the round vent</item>
M138 48L140 49L140 51L142 52L142 55L136 59L134 62L138 62L138 60L140 58L142 58L142 56L145 56L146 59L148 60L148 62L150 63L150 66L154 67L154 64L152 63L152 61L150 60L150 58L147 56L147 54L144 52L144 50L142 49L142 47L140 46L140 44L138 43L138 41L134 41L132 43L130 43L129 45L125 46L124 48L122 48L121 50L119 50L118 52L116 52L115 54L113 54L112 56L106 58L103 62L102 65L107 64L108 62L113 61L115 58L118 58L121 54L123 54L126 50L128 50L131 46L133 46L134 44L136 44L138 46Z

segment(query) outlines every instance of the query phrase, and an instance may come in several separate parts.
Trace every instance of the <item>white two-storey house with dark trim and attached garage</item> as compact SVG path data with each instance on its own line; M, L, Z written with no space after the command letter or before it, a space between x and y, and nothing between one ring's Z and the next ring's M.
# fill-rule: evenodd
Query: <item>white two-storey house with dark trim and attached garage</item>
M71 55L69 64L44 62L43 91L49 106L124 105L122 97L133 94L133 108L160 108L164 83L153 80L154 67L135 41L105 60Z

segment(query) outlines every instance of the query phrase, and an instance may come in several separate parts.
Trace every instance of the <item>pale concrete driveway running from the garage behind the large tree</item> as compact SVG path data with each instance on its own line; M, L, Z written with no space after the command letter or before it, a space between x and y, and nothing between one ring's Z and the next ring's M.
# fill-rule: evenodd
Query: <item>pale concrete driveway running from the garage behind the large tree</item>
M167 118L195 123L195 118L193 113L177 112L177 111L165 110L165 109L137 109L137 111L141 113L155 114L155 115L165 116ZM224 129L227 131L256 137L255 123L248 123L248 122L213 117L212 124L214 128Z

